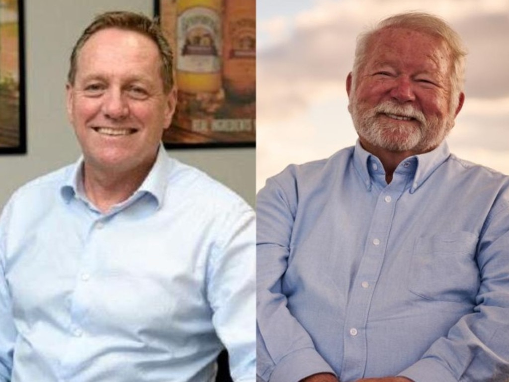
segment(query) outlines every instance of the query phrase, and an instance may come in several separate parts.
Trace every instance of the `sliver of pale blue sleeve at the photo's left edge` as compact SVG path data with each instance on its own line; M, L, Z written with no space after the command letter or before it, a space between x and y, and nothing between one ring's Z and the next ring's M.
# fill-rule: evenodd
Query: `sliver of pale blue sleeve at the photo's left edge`
M7 207L6 207L7 210ZM11 380L14 343L17 331L12 315L12 301L6 280L7 212L0 218L0 382Z

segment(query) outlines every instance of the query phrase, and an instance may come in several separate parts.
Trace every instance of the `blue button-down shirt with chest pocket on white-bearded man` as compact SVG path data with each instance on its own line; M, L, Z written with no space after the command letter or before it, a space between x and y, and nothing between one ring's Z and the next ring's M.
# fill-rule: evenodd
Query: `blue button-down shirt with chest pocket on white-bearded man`
M444 142L390 184L357 143L257 199L258 374L509 380L509 178Z

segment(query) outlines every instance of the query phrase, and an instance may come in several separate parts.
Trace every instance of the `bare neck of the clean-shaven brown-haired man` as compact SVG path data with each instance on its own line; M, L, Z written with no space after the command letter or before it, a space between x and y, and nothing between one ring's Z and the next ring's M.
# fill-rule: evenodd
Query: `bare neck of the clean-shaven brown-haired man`
M153 163L135 170L119 171L98 169L85 162L83 166L83 188L87 198L101 211L122 203L142 185Z

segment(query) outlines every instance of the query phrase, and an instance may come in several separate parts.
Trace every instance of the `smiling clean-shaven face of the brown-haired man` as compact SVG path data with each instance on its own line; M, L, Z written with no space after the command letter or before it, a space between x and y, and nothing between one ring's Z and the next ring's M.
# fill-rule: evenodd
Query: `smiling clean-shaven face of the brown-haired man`
M86 170L150 169L175 104L175 90L164 94L150 38L115 28L92 35L78 54L74 84L67 85Z

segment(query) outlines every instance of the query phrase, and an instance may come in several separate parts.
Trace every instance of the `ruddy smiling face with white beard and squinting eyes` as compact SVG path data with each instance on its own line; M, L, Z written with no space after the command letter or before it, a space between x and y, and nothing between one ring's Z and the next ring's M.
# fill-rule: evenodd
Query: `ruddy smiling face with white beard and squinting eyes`
M437 147L463 103L461 94L459 106L450 110L447 45L438 37L386 28L372 37L367 51L359 72L347 79L349 111L361 144L375 154L411 155Z

